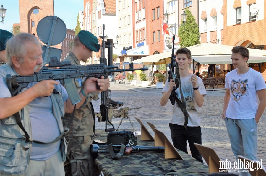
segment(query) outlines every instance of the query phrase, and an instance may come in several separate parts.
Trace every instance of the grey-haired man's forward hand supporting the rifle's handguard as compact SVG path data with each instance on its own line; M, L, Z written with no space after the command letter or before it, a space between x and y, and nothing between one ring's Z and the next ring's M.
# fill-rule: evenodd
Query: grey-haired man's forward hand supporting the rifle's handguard
M100 89L97 89L96 84L100 87ZM90 77L86 80L83 91L87 95L90 92L106 91L109 87L109 78L104 79L104 76L102 76L101 78Z

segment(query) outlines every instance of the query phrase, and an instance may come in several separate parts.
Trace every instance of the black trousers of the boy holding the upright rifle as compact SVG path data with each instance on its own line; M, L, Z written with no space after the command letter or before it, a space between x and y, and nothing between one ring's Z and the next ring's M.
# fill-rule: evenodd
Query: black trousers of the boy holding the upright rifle
M171 138L172 138L174 147L187 153L186 141L188 141L192 157L198 160L199 162L203 163L200 152L197 150L197 148L193 144L194 142L201 144L200 126L187 127L187 130L186 130L184 126L169 123L169 127L171 130Z

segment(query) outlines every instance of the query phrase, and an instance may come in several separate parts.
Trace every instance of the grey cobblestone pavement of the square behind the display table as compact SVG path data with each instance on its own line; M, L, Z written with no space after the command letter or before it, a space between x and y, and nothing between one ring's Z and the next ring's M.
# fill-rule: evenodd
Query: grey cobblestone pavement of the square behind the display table
M154 124L155 127L158 130L162 131L172 142L170 136L169 121L171 119L173 106L169 101L164 107L162 107L160 105L162 89L155 89L155 86L152 87L153 88L131 86L127 81L126 84L114 84L114 82L111 82L111 99L123 102L123 107L142 107L141 109L134 109L129 111L129 118L131 119L136 131L140 131L140 124L134 117L141 119L142 123L149 130L151 135L154 136L154 133L150 126L146 123L146 121ZM204 97L204 104L200 108L202 119L202 145L212 147L213 149L215 149L216 153L222 161L228 159L233 165L233 162L236 161L236 159L231 150L225 123L221 118L223 111L223 96L225 90L212 88L207 88L206 90L207 95ZM93 104L95 111L100 111L100 100L93 101ZM121 118L112 119L112 123L115 129L117 129L120 121ZM110 128L110 126L108 126L108 128ZM105 129L105 122L96 122L96 129ZM129 120L124 119L119 129L132 129ZM258 124L257 156L259 160L262 159L262 164L264 166L266 165L265 129L266 111L264 111ZM189 150L189 145L187 147Z

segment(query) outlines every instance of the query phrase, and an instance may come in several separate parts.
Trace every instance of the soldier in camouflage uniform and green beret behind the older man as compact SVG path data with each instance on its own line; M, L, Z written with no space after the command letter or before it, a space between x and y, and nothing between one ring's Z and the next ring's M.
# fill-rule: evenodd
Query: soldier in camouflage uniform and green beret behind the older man
M100 44L98 39L89 31L80 31L74 39L74 47L65 59L71 64L80 65L80 61L86 62L92 56L92 51L98 52ZM82 91L83 82L78 91ZM109 79L105 79L109 87ZM83 93L83 92L82 92ZM70 131L66 136L68 141L67 160L64 163L66 175L88 175L99 176L100 170L95 165L95 160L90 155L90 144L94 135L94 110L91 101L98 100L99 92L92 92L87 95L86 101L76 109ZM63 124L66 127L72 114L65 114Z

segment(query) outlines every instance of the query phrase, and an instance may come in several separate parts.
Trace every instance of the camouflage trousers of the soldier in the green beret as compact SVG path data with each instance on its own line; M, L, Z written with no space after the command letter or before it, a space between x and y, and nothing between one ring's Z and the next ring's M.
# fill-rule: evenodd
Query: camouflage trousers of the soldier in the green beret
M90 155L91 136L66 137L67 160L64 162L66 176L99 176L100 170Z

